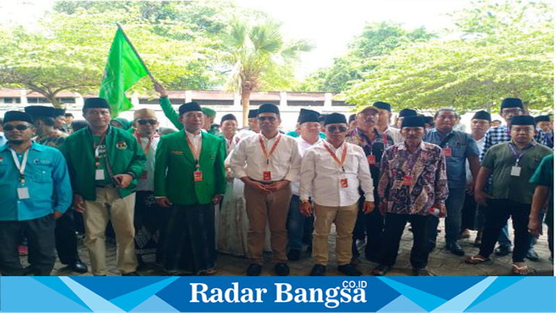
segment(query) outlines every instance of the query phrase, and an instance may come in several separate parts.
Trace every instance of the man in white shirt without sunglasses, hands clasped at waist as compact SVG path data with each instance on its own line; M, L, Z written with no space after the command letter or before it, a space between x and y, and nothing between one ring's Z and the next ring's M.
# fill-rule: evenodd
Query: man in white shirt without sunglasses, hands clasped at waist
M268 219L275 272L285 276L290 273L286 264L290 183L299 177L301 156L295 138L284 136L278 131L281 122L278 106L261 104L257 119L261 134L241 140L230 157L231 170L245 183L244 194L249 216L247 248L252 262L247 268L247 275L261 274Z

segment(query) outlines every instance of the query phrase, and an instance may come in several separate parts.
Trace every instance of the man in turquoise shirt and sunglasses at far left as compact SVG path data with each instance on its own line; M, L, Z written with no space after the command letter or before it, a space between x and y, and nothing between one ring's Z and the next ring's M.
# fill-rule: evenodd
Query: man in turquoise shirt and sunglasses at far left
M72 186L62 153L31 141L31 115L8 111L3 129L8 143L0 147L0 273L24 275L17 245L24 233L35 276L54 267L55 220L72 202Z

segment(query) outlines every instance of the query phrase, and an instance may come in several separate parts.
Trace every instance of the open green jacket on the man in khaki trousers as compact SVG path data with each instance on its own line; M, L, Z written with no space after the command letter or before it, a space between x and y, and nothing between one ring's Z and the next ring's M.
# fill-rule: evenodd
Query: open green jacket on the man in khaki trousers
M129 173L133 176L127 188L120 188L120 197L124 198L135 191L137 179L142 175L147 158L137 139L123 129L108 127L106 133L106 150L113 174ZM80 129L66 138L62 150L70 170L74 193L85 200L97 199L95 191L95 151L94 140L89 127Z

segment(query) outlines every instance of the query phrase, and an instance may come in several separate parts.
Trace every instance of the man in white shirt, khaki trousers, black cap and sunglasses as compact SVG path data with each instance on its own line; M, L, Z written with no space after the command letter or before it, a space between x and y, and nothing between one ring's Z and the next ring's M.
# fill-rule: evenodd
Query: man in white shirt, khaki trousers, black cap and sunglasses
M313 259L316 265L311 276L322 276L328 262L328 235L336 224L336 262L338 271L359 276L361 272L351 264L353 227L359 209L359 187L364 191L363 211L375 208L373 179L370 177L365 152L358 145L345 142L347 121L340 113L327 115L326 141L307 150L300 175L300 210L311 214L309 194L315 205Z

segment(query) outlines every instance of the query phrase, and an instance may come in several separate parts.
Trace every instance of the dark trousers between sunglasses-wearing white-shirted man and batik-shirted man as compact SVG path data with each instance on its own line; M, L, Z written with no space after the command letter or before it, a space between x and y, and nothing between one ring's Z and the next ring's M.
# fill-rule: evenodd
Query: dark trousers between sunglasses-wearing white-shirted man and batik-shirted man
M370 214L363 213L364 198L359 199L359 211L352 236L352 255L354 259L359 257L357 250L357 239L366 238L365 257L377 259L382 244L382 232L384 231L384 216L376 209Z

